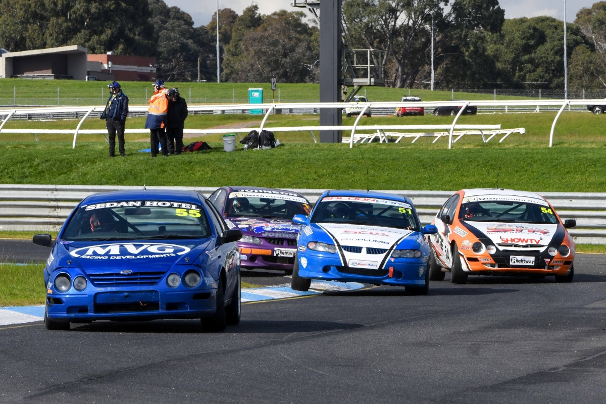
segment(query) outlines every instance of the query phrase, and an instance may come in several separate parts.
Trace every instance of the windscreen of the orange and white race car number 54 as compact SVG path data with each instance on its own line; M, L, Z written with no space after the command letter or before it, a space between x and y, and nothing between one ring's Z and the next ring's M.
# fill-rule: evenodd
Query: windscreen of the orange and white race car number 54
M556 224L553 209L540 199L527 197L465 197L459 219L473 222Z

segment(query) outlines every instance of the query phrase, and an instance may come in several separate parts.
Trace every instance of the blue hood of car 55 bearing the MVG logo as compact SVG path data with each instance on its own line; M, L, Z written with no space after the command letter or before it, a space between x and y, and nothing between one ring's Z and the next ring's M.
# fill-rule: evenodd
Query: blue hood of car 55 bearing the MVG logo
M167 271L175 263L193 263L207 250L210 239L60 242L55 257L65 266L97 270Z

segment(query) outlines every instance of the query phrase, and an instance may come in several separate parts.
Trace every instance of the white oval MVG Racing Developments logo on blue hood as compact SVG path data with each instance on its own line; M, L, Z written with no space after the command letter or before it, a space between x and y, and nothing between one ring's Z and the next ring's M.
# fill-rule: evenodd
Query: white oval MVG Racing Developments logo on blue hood
M191 248L167 243L98 244L70 251L72 257L83 259L150 259L187 254Z

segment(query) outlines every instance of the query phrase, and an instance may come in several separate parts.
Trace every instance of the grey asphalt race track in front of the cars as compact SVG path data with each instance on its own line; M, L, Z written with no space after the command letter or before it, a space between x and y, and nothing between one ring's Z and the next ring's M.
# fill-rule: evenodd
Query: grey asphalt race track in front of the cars
M245 303L199 323L0 327L6 403L603 403L606 256L572 283L470 277Z

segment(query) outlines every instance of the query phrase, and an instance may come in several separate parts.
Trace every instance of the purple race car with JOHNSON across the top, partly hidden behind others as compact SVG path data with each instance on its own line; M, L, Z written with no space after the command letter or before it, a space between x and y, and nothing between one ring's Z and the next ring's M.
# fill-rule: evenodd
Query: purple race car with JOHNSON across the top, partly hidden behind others
M304 196L273 188L222 187L209 199L230 228L242 231L238 241L242 269L292 273L301 228L292 219L311 210Z

